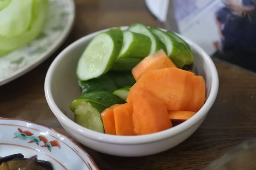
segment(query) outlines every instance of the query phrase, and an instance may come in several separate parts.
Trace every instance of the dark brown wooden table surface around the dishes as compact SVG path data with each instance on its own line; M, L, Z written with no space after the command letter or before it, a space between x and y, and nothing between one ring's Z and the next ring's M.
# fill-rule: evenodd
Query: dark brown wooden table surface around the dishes
M76 39L108 27L134 22L164 27L148 12L142 0L75 2L76 21L65 43L40 66L0 87L0 117L43 123L66 133L44 96L44 78L58 53ZM214 63L220 80L218 96L205 121L191 137L170 150L140 158L110 156L83 146L98 167L197 170L243 141L256 139L256 74Z

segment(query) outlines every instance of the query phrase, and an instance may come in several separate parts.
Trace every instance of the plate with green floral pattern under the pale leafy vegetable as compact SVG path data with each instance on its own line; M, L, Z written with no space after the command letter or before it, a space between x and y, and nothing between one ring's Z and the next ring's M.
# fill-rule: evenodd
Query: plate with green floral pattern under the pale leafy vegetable
M75 18L73 0L50 0L42 33L27 45L0 57L0 86L32 70L64 42Z

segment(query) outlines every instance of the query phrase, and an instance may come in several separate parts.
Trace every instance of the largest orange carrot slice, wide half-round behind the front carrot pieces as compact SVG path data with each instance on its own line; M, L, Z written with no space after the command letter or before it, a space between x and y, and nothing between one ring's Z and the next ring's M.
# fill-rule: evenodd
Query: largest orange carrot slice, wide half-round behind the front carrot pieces
M175 67L148 71L130 91L149 90L165 102L168 110L186 110L191 102L192 85L189 81L193 75L192 72Z

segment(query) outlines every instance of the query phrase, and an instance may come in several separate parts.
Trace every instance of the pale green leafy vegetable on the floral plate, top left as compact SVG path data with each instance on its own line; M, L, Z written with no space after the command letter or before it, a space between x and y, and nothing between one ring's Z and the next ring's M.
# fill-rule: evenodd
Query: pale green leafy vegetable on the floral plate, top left
M48 0L0 0L0 55L35 39L48 13Z

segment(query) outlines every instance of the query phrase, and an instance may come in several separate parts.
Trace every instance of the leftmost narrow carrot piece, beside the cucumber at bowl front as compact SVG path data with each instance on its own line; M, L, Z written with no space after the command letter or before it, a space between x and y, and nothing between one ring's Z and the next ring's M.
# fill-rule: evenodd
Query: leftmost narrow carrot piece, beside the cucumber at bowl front
M114 108L119 106L120 104L114 104L113 106L110 106L109 108L106 108L101 113L101 118L104 125L104 130L106 134L110 135L116 135L116 126L115 126L115 120L114 120Z

